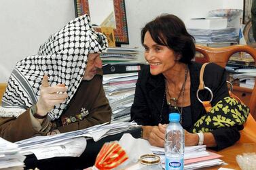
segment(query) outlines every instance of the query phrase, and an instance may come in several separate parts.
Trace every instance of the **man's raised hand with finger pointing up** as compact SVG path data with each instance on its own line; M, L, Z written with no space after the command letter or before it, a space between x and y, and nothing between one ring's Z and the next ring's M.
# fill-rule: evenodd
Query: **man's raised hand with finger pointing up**
M65 84L50 87L48 76L44 75L41 83L40 98L37 102L37 114L45 116L56 104L64 102L67 97Z

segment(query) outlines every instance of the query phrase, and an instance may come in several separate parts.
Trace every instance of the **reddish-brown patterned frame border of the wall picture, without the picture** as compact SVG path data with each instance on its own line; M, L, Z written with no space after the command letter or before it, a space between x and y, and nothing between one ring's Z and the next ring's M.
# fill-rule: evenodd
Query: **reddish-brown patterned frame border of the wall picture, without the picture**
M75 16L88 14L90 16L89 1L88 0L74 0ZM113 0L113 7L115 12L115 45L129 44L128 26L126 21L126 7L124 0Z

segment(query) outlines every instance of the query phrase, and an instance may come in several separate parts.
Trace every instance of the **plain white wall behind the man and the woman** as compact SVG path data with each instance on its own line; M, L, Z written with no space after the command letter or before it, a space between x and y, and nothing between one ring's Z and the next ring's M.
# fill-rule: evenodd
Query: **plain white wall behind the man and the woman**
M140 30L156 16L172 13L186 22L208 10L240 8L243 0L126 0L130 46L140 47ZM75 18L73 0L0 1L0 83L16 62L37 53L48 37ZM141 57L143 58L143 57Z

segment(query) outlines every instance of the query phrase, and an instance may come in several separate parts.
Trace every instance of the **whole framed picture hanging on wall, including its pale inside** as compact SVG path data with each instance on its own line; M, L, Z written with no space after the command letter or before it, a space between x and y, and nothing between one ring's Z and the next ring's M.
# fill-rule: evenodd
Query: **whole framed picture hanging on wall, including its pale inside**
M124 0L74 0L75 16L88 14L92 26L112 27L115 44L128 44L128 27Z

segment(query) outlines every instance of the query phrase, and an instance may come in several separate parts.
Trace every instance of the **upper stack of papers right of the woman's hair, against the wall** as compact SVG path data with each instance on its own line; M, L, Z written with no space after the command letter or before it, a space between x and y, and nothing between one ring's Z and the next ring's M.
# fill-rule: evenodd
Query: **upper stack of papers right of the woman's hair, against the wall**
M196 43L238 43L239 28L223 29L187 29L193 35Z

